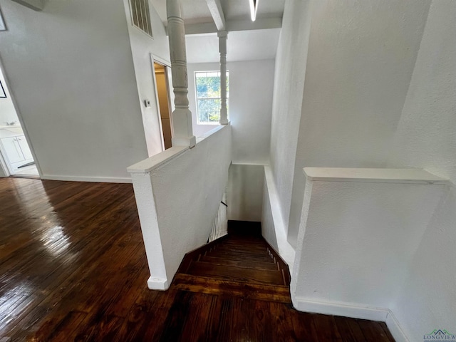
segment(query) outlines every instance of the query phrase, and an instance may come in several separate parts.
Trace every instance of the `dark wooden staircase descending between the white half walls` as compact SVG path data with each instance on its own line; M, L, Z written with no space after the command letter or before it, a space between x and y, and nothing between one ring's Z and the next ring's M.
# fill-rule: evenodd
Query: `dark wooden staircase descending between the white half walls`
M289 304L289 284L288 266L259 222L230 221L228 235L185 255L172 288Z

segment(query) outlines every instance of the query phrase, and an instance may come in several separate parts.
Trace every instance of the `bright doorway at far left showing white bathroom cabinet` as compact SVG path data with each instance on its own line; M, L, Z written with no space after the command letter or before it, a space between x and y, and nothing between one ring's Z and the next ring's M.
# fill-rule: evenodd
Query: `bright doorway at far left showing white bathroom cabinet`
M0 176L39 178L24 127L0 65ZM3 175L2 175L3 173Z

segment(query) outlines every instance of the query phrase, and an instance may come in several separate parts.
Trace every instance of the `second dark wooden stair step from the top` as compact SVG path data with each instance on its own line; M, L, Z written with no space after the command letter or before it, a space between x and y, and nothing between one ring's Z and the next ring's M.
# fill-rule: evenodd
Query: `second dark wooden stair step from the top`
M281 271L245 269L236 266L219 266L204 261L192 261L187 274L213 276L229 281L253 282L256 284L285 285Z

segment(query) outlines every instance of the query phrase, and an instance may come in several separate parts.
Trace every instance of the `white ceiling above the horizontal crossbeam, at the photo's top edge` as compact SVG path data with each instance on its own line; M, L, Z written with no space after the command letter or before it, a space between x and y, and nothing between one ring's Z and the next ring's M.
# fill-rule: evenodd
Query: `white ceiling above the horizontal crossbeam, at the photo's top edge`
M166 0L150 0L163 24L167 26ZM257 0L257 19L281 18L284 14L285 0ZM249 0L220 0L225 19L250 20ZM206 0L182 0L182 14L185 24L212 22Z

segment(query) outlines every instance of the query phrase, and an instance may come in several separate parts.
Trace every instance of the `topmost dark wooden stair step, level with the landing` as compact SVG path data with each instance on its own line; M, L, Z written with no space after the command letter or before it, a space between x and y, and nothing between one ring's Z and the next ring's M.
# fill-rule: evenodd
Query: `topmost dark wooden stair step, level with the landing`
M172 281L172 289L291 304L288 286L281 285L239 283L237 281L178 273Z

